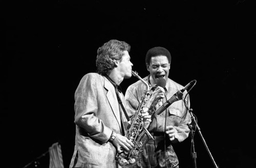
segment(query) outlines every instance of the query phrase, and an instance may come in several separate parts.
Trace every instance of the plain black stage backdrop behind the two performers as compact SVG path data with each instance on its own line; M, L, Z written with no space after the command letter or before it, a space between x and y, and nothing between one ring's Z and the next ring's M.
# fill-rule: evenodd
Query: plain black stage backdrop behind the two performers
M146 51L166 47L169 77L183 86L197 80L191 108L217 164L255 167L255 2L12 1L6 9L3 167L24 167L55 142L69 166L74 92L84 74L95 72L97 48L110 39L131 44L141 77L148 75ZM137 80L124 79L123 93ZM190 141L174 146L181 168L193 167ZM195 148L198 167L214 167L198 133ZM48 167L49 155L37 161Z

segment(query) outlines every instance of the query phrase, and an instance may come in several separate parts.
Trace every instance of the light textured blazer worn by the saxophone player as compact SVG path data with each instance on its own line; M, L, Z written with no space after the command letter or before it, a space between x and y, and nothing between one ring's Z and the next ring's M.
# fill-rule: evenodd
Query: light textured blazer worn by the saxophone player
M124 103L123 94L119 96ZM70 167L117 167L116 148L108 141L112 130L121 134L119 103L112 83L97 73L84 75L75 92L74 108L76 136ZM122 120L127 125L124 115Z

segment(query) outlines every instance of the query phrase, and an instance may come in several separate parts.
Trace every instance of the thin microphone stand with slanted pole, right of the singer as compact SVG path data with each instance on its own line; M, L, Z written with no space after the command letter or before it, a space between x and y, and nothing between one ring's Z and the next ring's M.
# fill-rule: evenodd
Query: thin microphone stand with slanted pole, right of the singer
M200 135L200 137L201 137L201 139L202 139L202 141L203 141L203 143L204 143L204 146L205 146L205 148L206 148L206 150L207 150L207 152L208 152L208 154L209 154L209 156L210 156L210 158L211 158L211 161L214 163L214 166L215 166L216 168L219 168L218 165L216 164L215 160L214 160L214 157L212 157L209 148L208 148L207 145L206 145L206 142L205 142L205 140L204 140L204 137L203 137L203 135L202 135L202 133L201 133L201 129L200 129L200 127L198 126L198 124L197 124L197 122L196 122L196 118L195 118L195 116L194 116L193 113L192 113L193 109L191 109L191 108L189 109L189 108L188 108L186 100L184 100L184 103L185 103L185 106L186 106L187 110L189 111L189 114L191 115L191 120L192 120L192 122L195 123L195 127L196 127L195 129L198 131L198 133L199 133L199 135ZM192 123L192 122L191 122L191 123ZM190 128L190 127L189 127L189 128ZM193 131L191 131L191 132L194 133L195 131L193 130ZM192 138L192 145L193 145L193 151L192 151L191 154L192 154L192 156L193 156L194 168L197 168L197 153L195 152L194 135L193 135L193 138Z

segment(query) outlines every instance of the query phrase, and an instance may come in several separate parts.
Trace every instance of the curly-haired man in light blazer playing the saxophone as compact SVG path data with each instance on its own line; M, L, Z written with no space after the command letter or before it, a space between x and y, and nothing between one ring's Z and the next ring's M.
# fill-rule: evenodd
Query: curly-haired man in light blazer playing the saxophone
M75 91L75 147L70 167L119 167L117 152L134 144L124 134L125 117L120 83L132 76L130 45L110 40L97 50L97 73L82 77ZM123 104L123 105L122 105ZM143 121L151 122L148 113Z

